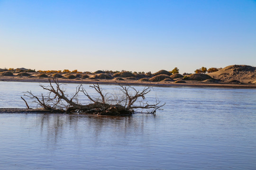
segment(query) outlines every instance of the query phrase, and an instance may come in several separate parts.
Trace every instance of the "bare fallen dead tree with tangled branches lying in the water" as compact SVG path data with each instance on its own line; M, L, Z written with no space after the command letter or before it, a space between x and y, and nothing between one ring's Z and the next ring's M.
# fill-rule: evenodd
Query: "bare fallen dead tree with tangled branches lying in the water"
M68 95L65 94L65 90L62 88L63 84L59 84L57 78L49 77L48 80L49 85L40 84L43 89L48 91L47 95L41 94L41 96L38 97L31 91L25 92L24 95L32 99L33 102L36 102L37 106L54 112L130 115L137 109L146 110L147 113L155 113L156 110L161 110L161 107L165 105L160 104L157 100L155 104L145 102L145 95L152 89L152 87L149 86L145 87L140 92L129 85L125 86L119 84L120 94L104 94L97 83L96 85L90 86L99 94L99 97L95 98L91 97L81 84L76 87L76 92L73 96L68 97ZM79 103L78 93L84 94L91 103L85 105ZM25 99L23 100L25 101ZM135 105L135 103L137 105ZM29 108L28 105L27 108Z

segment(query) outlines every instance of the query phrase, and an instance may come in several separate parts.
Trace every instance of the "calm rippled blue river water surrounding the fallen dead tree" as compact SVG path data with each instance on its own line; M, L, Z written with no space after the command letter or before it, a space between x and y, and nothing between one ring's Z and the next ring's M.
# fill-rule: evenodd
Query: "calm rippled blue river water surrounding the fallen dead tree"
M44 93L0 82L0 108L25 108L27 90ZM255 170L255 89L155 87L147 99L155 94L166 103L155 116L0 114L0 169Z

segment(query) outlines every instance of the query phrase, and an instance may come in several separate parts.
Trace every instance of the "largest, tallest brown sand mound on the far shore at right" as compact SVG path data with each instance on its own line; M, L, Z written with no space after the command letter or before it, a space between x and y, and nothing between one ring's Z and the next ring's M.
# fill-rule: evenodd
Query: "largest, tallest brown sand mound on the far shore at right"
M256 67L232 65L222 68L219 71L209 73L208 75L224 82L238 80L240 82L249 83L256 81Z

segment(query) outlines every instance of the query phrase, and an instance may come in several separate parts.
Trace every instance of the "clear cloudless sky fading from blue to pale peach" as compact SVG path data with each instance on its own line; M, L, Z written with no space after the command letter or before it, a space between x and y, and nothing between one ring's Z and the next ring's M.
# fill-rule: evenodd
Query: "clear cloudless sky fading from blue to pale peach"
M256 0L0 0L0 68L256 66Z

